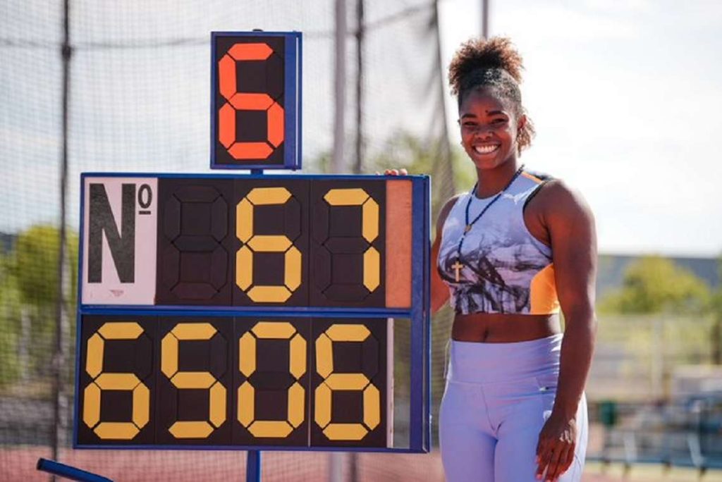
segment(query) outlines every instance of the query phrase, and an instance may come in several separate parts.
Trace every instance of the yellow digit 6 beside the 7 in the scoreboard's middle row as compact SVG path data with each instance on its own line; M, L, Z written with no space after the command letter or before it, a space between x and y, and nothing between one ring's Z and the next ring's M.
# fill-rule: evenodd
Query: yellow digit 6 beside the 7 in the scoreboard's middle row
M286 188L254 188L235 209L236 237L243 243L235 255L235 284L254 302L283 303L301 284L301 252L284 235L253 233L253 206L285 204L291 198ZM284 284L253 284L253 253L285 253Z

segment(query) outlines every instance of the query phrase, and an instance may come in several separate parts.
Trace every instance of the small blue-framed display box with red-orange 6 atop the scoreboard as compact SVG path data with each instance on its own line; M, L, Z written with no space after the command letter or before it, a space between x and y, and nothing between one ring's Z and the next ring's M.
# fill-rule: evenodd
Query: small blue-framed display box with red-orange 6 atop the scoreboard
M300 32L211 33L211 168L301 168Z

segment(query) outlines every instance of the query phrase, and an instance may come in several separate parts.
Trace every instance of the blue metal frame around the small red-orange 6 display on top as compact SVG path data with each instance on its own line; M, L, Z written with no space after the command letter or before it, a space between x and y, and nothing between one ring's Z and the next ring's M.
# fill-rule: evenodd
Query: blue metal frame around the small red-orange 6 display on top
M243 165L217 164L214 155L214 143L218 136L215 99L218 93L218 66L216 58L216 40L222 37L283 37L286 52L284 55L284 162L282 165L244 163ZM211 169L222 170L258 170L301 168L301 88L303 68L301 32L211 32Z

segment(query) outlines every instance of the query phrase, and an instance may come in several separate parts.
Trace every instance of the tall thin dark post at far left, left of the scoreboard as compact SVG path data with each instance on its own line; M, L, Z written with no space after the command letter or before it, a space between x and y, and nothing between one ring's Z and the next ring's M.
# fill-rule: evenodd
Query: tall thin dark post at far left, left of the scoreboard
M64 406L62 397L63 369L65 367L65 350L63 343L63 317L65 302L65 256L66 256L66 192L68 185L68 100L70 85L70 58L72 49L70 46L70 0L63 2L63 44L61 46L61 57L63 59L63 91L62 91L62 136L63 144L60 159L60 240L58 242L58 292L55 300L55 340L53 350L53 427L51 429L51 444L53 460L58 460L59 444L63 427L61 427L61 409ZM51 476L55 480L55 476Z

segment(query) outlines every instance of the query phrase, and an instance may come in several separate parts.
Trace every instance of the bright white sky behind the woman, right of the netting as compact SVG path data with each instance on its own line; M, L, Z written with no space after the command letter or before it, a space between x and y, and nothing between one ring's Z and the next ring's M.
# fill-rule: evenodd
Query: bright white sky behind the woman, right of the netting
M481 3L440 1L445 65ZM537 135L521 159L580 190L600 253L722 253L721 31L713 0L491 0L490 34L526 68Z

